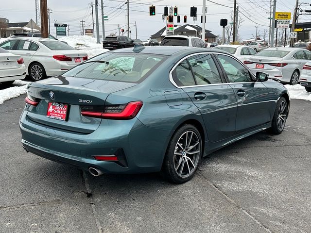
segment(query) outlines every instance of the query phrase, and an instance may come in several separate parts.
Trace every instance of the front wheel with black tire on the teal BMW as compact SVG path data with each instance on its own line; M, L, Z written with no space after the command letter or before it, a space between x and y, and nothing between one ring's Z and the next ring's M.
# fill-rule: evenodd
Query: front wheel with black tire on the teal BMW
M273 115L272 125L270 129L271 133L280 134L283 132L286 124L286 119L288 116L287 109L288 109L287 101L284 97L281 97L276 103L276 110Z

